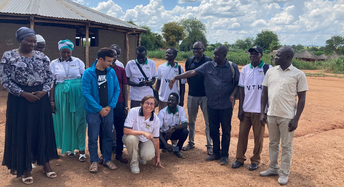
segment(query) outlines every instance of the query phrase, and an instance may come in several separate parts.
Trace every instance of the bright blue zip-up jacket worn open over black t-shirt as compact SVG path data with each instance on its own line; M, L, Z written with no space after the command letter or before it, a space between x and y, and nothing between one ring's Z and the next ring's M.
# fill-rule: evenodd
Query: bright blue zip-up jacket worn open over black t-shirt
M98 113L103 107L100 106L100 98L98 93L98 78L96 74L96 60L93 65L87 68L82 77L81 87L85 98L86 112ZM113 110L116 107L120 88L118 85L118 79L115 70L112 68L106 68L106 81L108 86L109 102L108 106Z

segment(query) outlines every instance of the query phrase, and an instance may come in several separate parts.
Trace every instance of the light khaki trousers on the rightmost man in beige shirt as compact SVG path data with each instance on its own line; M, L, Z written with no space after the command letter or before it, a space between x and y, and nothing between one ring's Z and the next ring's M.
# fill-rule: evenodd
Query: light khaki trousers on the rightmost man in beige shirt
M277 116L267 116L269 129L269 154L270 169L279 171L280 174L289 175L291 156L293 154L294 131L289 132L288 125L292 119ZM280 152L280 141L282 147L281 169L279 170L278 157Z

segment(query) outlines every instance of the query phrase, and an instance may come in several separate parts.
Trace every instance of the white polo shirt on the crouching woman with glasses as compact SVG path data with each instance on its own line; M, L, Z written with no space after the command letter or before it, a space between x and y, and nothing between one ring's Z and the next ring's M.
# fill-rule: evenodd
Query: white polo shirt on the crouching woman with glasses
M150 118L144 120L143 111L140 106L131 108L124 122L124 128L149 132L154 138L159 138L160 121L154 112L152 114ZM138 138L141 142L148 140L143 135L138 136Z

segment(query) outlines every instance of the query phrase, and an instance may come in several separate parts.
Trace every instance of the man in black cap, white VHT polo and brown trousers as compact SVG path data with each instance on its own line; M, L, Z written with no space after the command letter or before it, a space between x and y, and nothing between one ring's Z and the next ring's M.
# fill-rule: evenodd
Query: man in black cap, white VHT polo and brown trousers
M264 80L265 73L269 68L269 64L265 64L260 60L263 56L263 49L260 46L254 46L248 49L250 52L251 63L244 66L240 72L238 85L239 88L239 112L238 118L239 137L237 145L236 161L232 168L239 168L244 165L246 161L246 150L248 142L248 134L251 126L255 139L255 146L253 155L250 158L251 164L249 170L257 170L260 163L260 153L263 148L263 138L265 132L265 124L260 123L260 98L263 86L261 83Z

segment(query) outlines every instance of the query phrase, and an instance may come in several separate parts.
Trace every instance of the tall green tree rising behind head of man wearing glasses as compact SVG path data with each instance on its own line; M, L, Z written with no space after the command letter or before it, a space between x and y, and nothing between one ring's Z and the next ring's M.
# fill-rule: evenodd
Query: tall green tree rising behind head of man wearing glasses
M184 27L186 37L183 39L183 46L187 47L187 50L191 50L193 44L200 40L207 47L208 40L205 36L207 29L205 24L198 20L196 17L181 19L179 21L180 25Z

